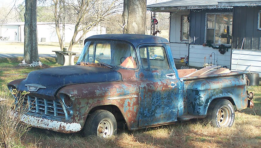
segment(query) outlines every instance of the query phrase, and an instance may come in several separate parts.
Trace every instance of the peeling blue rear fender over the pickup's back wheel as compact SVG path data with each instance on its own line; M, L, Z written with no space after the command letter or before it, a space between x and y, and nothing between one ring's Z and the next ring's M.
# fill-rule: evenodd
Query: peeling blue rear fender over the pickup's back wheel
M186 85L189 114L206 115L209 104L217 98L231 98L237 110L247 108L246 83L234 77L194 80Z

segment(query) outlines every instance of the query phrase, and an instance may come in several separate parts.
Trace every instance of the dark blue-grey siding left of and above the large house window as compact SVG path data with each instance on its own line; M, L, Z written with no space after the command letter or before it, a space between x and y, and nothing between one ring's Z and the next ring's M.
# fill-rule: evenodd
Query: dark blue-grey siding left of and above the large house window
M233 13L233 9L197 9L190 12L190 44L205 43L206 13ZM194 42L195 38L195 42Z

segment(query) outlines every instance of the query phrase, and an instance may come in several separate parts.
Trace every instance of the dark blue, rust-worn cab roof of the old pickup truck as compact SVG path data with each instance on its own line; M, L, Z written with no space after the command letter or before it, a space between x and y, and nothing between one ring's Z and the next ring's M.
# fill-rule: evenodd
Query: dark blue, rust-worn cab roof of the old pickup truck
M168 44L168 40L166 38L162 38L159 36L150 36L144 34L101 34L94 35L86 38L84 40L84 44L88 40L119 40L130 42L137 47L140 44Z

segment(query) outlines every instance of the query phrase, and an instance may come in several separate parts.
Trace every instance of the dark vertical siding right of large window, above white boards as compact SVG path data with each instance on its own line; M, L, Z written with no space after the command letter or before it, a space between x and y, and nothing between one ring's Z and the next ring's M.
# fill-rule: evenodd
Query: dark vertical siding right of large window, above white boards
M256 7L234 7L233 8L233 30L232 48L261 50L261 30L258 30L258 12L260 6Z

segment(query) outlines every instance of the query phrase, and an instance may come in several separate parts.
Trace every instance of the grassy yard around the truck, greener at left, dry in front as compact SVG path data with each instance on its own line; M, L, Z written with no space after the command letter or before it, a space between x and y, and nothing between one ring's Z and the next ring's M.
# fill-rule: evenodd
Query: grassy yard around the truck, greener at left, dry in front
M22 58L0 58L0 84L26 77L28 73L41 68L17 67ZM60 66L55 58L41 58L44 64ZM7 75L16 74L16 75ZM231 128L213 128L202 121L176 122L173 125L148 128L137 131L119 129L118 134L103 140L96 137L82 137L79 133L63 134L44 129L32 128L21 135L15 147L253 147L261 145L261 86L251 86L254 92L253 109L235 112L235 122ZM1 96L0 96L1 97ZM12 100L12 98L10 98ZM1 146L0 146L1 147Z

